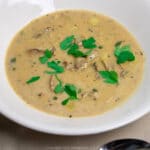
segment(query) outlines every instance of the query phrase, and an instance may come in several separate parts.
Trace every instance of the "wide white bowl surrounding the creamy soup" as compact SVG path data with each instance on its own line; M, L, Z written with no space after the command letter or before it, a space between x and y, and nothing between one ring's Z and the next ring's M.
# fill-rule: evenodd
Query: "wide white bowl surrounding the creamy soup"
M61 118L28 107L8 84L4 60L11 38L33 18L64 8L89 9L112 16L124 24L143 47L146 54L144 80L124 105L96 117ZM150 111L149 18L149 0L0 0L0 112L28 128L62 135L101 133L145 115Z

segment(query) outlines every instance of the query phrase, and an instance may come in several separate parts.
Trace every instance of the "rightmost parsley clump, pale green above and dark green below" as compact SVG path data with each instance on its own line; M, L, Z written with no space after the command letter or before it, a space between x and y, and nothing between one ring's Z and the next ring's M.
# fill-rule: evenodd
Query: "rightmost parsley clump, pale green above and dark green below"
M122 41L115 44L114 55L117 58L117 64L125 63L126 61L134 61L135 56L131 51L130 45L121 46Z

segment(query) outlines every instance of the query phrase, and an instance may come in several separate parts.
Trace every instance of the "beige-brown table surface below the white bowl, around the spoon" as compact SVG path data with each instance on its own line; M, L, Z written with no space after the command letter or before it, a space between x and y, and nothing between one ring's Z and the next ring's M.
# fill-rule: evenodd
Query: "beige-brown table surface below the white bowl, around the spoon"
M150 141L150 114L128 126L97 135L58 136L36 132L0 116L0 150L98 150L118 138Z

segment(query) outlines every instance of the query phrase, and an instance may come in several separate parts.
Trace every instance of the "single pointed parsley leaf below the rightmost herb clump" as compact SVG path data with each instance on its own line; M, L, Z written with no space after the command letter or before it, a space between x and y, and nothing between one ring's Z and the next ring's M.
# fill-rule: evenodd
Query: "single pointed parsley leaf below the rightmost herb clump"
M104 79L104 82L109 84L118 83L118 74L115 71L99 71L100 76Z

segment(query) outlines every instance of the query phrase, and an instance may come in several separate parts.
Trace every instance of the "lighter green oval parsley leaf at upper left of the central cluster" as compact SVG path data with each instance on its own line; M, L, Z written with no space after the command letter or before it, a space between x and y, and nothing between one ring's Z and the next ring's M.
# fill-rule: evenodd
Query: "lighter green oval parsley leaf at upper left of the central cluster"
M61 50L67 50L71 45L73 40L75 39L74 35L66 37L61 43L60 48Z

